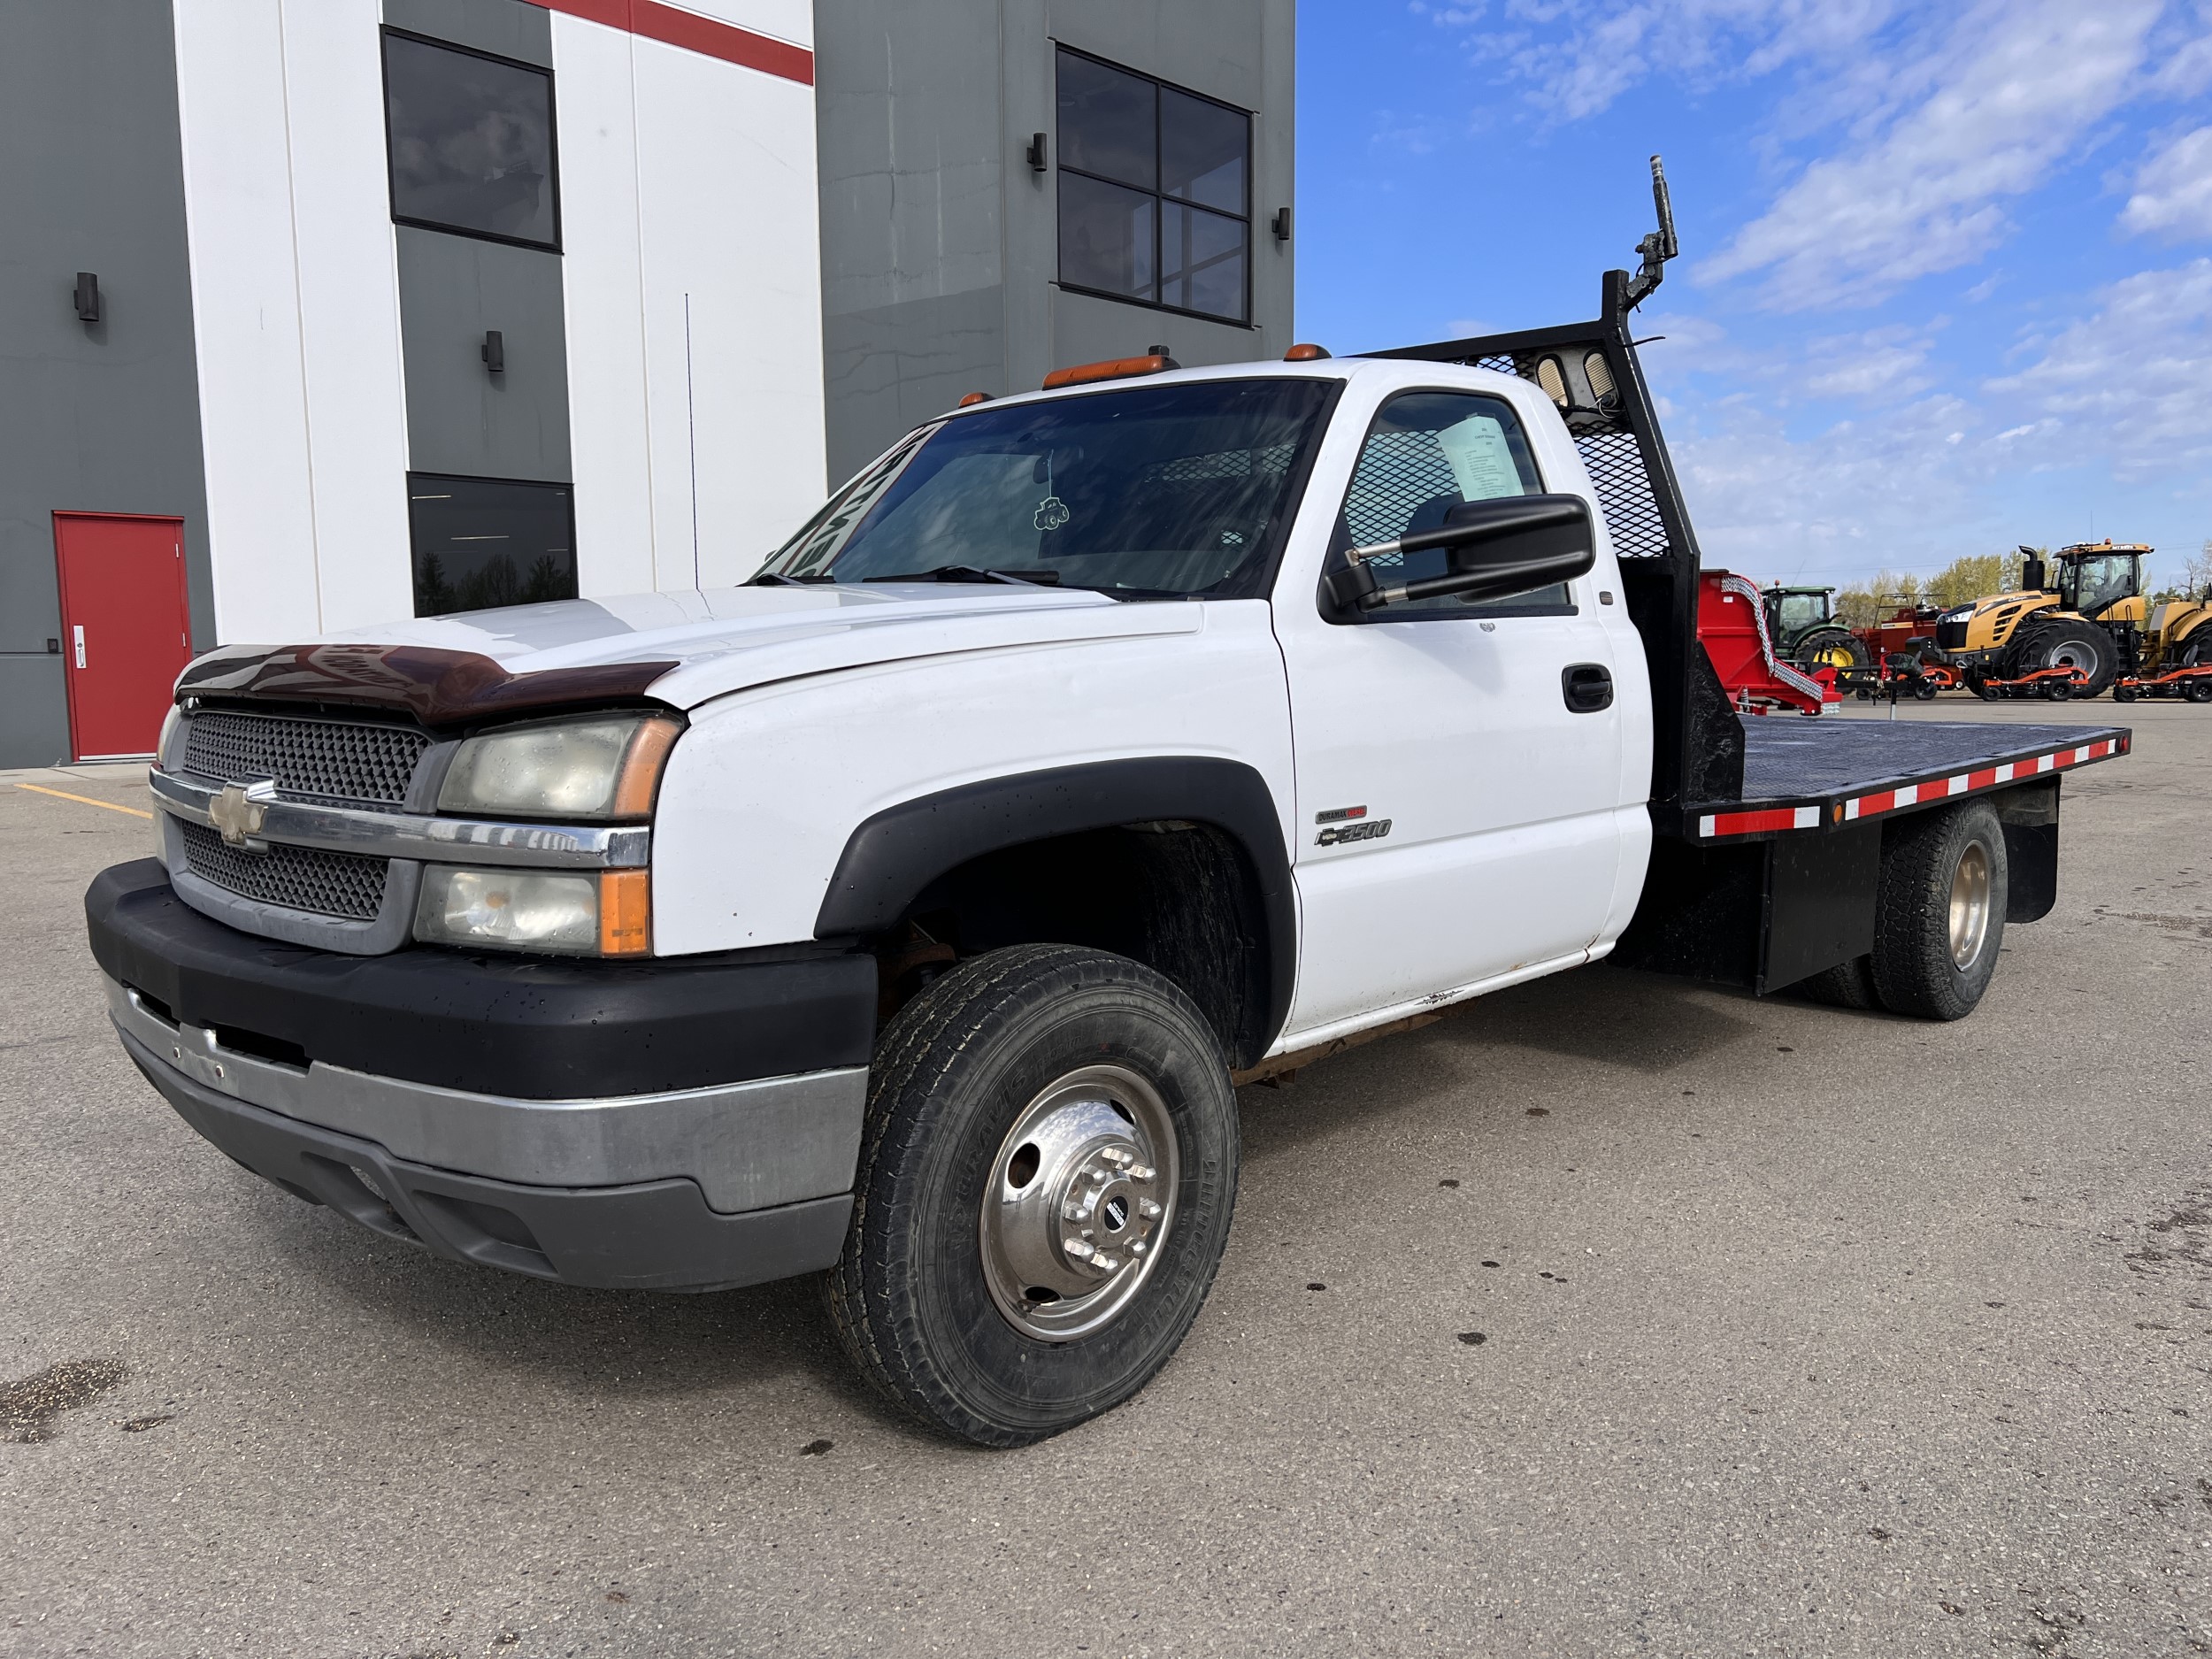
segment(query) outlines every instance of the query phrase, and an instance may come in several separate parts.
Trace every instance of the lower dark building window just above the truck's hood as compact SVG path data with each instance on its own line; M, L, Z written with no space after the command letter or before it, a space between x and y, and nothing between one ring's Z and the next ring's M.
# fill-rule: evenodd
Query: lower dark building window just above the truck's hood
M416 615L575 597L568 484L407 473Z

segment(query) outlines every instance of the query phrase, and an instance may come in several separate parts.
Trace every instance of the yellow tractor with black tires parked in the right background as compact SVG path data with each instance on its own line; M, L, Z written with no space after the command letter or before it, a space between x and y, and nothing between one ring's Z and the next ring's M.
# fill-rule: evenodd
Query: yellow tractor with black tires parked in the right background
M2097 697L2117 677L2212 666L2212 599L2143 597L2139 542L2077 542L2051 562L2020 549L2020 593L1944 611L1936 648L1978 697Z

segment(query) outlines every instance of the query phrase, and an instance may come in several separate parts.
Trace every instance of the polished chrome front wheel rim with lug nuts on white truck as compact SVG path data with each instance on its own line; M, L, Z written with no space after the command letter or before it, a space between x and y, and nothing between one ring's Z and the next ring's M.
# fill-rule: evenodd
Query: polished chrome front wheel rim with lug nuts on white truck
M1084 1066L1013 1119L991 1161L978 1243L998 1312L1066 1343L1137 1296L1175 1223L1175 1124L1126 1066Z

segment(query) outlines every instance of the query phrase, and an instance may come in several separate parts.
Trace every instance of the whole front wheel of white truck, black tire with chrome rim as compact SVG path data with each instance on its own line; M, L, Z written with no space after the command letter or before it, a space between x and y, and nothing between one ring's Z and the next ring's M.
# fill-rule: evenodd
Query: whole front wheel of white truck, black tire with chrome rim
M1234 1201L1237 1097L1190 998L1106 951L991 951L883 1033L832 1321L929 1429L1044 1440L1168 1363Z

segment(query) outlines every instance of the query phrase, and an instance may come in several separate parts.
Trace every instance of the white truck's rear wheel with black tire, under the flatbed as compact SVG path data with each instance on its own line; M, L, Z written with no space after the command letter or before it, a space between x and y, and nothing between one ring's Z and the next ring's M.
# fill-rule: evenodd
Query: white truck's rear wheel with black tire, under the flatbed
M1882 832L1874 989L1891 1013L1964 1020L2004 947L2004 825L1989 801L1916 812Z

